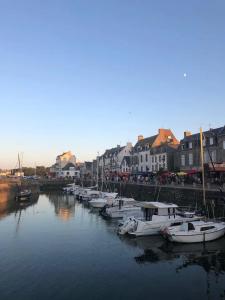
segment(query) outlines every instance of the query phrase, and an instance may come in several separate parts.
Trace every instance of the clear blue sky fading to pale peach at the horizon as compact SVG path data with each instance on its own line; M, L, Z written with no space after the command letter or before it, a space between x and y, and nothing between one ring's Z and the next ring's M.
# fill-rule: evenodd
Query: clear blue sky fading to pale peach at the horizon
M0 168L225 125L224 0L0 0Z

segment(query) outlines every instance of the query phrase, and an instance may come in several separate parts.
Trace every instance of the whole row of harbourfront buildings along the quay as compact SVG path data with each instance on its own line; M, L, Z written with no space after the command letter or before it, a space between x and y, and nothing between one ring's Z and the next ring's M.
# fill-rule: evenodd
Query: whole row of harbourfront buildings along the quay
M225 126L203 133L204 163L209 170L225 172ZM56 158L50 169L57 177L80 177L104 173L145 175L157 172L201 171L200 133L185 131L178 140L170 129L159 129L150 137L139 135L133 146L117 145L107 149L92 162L77 164L76 157L69 151Z

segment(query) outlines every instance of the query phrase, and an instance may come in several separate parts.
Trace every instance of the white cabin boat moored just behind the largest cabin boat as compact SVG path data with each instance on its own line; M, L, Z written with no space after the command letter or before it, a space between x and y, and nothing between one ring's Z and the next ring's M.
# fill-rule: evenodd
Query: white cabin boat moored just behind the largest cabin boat
M137 206L137 201L133 198L119 198L116 199L116 203L111 207L104 207L101 211L101 215L105 218L116 219L116 218L128 218L141 217L141 207Z

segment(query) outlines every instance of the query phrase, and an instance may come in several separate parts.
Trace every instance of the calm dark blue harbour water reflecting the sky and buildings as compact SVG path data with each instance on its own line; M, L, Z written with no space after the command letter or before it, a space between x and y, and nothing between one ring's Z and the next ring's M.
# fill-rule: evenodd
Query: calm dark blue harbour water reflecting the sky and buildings
M117 222L57 193L4 205L0 299L225 299L224 238L205 248L120 238Z

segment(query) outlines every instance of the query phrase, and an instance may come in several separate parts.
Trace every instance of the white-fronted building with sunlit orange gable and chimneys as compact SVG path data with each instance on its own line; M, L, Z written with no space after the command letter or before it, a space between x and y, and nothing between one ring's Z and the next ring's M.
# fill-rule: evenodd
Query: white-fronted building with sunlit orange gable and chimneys
M133 173L143 173L156 171L156 168L163 168L163 161L159 162L159 157L165 155L162 151L170 150L168 147L158 148L155 151L150 151L153 148L160 146L177 146L179 141L174 136L170 129L159 129L158 134L144 138L142 135L138 136L138 141L135 144L132 151L132 172ZM159 153L157 153L159 151ZM160 153L161 152L161 153ZM154 156L153 158L151 156ZM163 156L164 164L166 164L167 158Z

